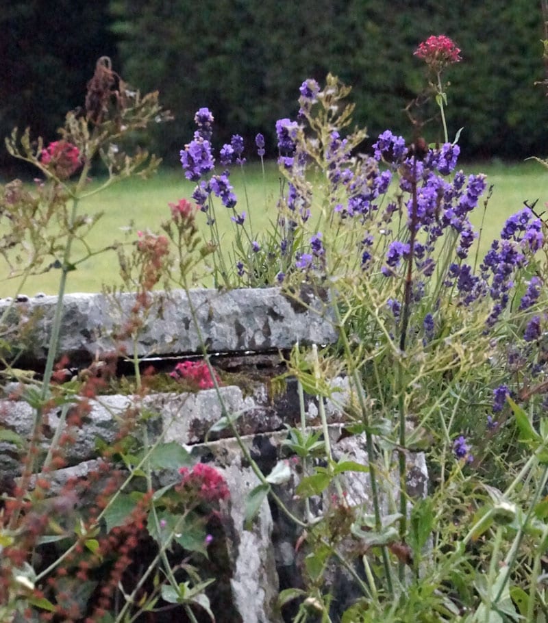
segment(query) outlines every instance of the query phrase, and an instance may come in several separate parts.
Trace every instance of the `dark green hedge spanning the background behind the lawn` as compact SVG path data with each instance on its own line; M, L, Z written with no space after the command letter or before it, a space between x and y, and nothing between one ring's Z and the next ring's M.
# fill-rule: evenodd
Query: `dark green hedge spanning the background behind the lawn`
M160 90L175 120L156 150L177 164L197 108L216 118L216 140L259 131L274 149L277 118L297 114L307 77L330 71L353 86L355 120L375 136L412 138L403 111L425 86L412 52L447 34L462 62L447 72L449 133L462 126L464 157L547 155L543 22L530 0L47 0L12 1L0 14L0 133L31 125L48 140L82 104L95 61L110 55L126 81ZM431 112L434 113L432 107ZM440 138L439 125L423 130ZM267 147L269 147L267 145ZM268 151L267 151L268 153ZM5 151L0 166L7 164Z

